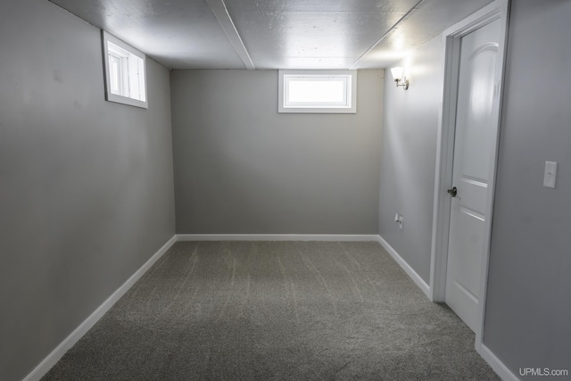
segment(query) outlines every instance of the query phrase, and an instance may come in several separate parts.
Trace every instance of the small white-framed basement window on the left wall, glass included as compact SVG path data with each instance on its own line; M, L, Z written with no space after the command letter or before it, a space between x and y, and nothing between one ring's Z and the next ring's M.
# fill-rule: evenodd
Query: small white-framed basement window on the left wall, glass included
M102 31L105 99L147 108L145 54Z

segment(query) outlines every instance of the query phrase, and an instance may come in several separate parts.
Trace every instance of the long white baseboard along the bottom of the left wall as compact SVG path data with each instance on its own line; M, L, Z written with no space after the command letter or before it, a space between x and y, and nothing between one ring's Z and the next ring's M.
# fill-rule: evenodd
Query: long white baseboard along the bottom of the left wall
M145 264L137 269L137 272L127 279L123 285L121 285L102 305L100 305L97 310L95 310L83 323L79 325L69 336L59 344L54 351L47 355L46 359L42 360L37 367L32 370L28 376L26 376L23 381L39 381L46 373L52 369L55 363L62 359L65 352L68 352L70 348L76 344L83 335L87 333L91 327L95 326L95 323L103 317L105 312L109 311L113 304L120 300L120 297L127 293L128 289L131 288L137 282L137 280L142 277L145 272L153 266L154 262L158 261L159 258L164 253L170 249L175 242L177 242L177 236L172 236L170 240L163 244L158 252L154 253L153 256L146 261Z

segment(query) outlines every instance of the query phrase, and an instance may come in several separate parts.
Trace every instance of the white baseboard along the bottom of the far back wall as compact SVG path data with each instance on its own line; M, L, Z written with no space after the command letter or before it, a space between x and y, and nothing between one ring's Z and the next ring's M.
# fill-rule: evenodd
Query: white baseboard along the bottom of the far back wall
M377 242L377 235L335 234L178 234L177 241L344 241Z

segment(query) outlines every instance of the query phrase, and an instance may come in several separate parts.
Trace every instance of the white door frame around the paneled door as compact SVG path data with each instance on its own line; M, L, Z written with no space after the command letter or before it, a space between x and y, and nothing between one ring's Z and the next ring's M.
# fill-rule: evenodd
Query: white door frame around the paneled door
M490 238L492 234L493 195L495 190L496 162L501 123L501 100L508 36L508 15L510 0L496 0L472 14L463 21L444 30L444 87L443 104L438 120L436 144L436 177L434 181L434 212L432 233L432 257L430 263L430 292L433 302L444 302L446 295L446 268L448 263L448 238L450 228L451 197L446 192L452 187L452 162L454 159L454 132L456 124L456 95L459 80L460 38L484 26L500 20L498 61L496 66L495 94L492 104L492 152L490 153L490 183L486 196L484 222L484 261L482 261L480 279L480 298L478 301L478 323L476 324L476 349L482 344L484 334L484 309L490 257Z

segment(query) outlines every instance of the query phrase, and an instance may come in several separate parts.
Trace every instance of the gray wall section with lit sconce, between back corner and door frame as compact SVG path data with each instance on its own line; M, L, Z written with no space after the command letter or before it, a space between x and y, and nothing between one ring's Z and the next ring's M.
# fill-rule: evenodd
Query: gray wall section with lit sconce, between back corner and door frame
M443 41L436 37L393 66L408 67L410 87L386 70L379 234L422 279L430 280L436 132L443 91ZM403 228L394 214L403 216Z

